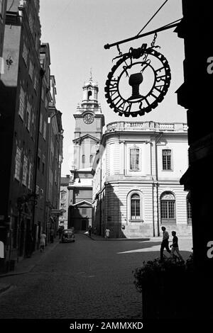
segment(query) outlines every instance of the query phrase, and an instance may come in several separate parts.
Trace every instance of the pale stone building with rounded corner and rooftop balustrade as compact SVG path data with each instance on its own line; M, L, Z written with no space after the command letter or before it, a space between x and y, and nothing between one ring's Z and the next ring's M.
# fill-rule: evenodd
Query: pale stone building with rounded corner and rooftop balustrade
M180 177L188 166L187 125L107 125L93 164L93 225L99 235L155 237L161 226L191 235L191 210Z

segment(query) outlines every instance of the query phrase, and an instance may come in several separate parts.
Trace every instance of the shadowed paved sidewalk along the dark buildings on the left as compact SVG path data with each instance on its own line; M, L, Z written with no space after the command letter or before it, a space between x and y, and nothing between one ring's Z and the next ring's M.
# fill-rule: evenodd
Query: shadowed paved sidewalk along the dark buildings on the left
M44 252L40 252L40 249L35 250L31 258L23 258L21 259L21 261L18 261L18 263L16 263L14 271L9 271L8 273L0 273L0 294L4 293L4 291L8 290L11 287L9 283L1 283L1 277L3 278L5 276L19 275L30 272L35 267L35 265L43 259L45 254L48 254L48 252L52 251L59 242L60 239L56 237L54 239L54 243L47 244Z

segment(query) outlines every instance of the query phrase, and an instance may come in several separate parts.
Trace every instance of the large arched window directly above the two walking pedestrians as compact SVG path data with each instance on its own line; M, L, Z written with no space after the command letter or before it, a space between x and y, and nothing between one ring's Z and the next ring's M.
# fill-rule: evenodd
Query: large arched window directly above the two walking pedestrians
M171 192L165 192L160 197L160 216L163 225L175 225L175 196Z

